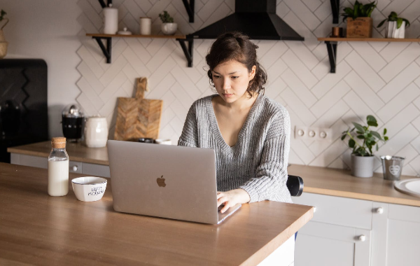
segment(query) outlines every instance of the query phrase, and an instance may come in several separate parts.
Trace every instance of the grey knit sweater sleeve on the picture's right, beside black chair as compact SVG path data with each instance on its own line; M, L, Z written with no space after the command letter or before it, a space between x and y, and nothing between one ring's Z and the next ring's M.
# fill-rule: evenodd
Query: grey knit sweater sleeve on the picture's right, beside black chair
M286 187L289 150L290 118L284 109L269 127L256 177L240 187L249 194L250 202L273 199L286 202L290 199Z

